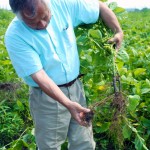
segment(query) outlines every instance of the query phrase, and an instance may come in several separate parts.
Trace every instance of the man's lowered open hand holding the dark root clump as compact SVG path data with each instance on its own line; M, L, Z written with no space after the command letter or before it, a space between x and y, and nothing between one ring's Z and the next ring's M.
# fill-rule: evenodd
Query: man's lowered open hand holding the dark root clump
M90 112L90 109L82 107L80 104L76 102L70 101L70 105L68 107L72 117L81 125L88 126L88 122L85 121L85 114Z

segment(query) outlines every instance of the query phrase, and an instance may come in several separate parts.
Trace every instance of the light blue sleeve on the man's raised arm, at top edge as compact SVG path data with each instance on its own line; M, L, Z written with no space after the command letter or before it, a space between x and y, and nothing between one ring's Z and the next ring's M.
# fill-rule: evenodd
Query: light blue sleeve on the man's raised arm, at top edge
M69 0L67 5L74 26L95 23L99 18L98 0Z

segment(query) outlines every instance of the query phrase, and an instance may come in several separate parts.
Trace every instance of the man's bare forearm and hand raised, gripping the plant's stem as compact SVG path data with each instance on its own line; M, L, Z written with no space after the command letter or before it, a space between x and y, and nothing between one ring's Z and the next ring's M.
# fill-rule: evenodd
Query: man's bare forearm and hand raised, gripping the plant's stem
M104 23L115 33L114 37L110 39L109 43L116 44L116 50L119 50L121 47L121 43L123 40L123 31L120 27L118 19L114 12L108 8L108 6L103 3L99 2L100 4L100 17L104 21Z

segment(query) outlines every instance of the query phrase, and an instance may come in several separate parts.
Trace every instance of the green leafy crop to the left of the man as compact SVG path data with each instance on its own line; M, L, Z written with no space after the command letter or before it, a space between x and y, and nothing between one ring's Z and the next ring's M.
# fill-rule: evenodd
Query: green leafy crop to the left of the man
M10 11L0 10L0 149L33 150L28 87L16 75L4 45L5 31L13 18Z

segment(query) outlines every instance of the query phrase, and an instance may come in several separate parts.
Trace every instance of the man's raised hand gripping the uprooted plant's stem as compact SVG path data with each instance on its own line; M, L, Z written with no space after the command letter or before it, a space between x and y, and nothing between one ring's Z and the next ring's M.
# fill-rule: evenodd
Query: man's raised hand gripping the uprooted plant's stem
M114 35L113 38L108 40L108 43L115 44L115 49L118 51L121 47L122 41L123 41L123 32L118 32Z

